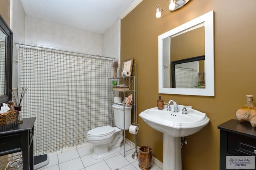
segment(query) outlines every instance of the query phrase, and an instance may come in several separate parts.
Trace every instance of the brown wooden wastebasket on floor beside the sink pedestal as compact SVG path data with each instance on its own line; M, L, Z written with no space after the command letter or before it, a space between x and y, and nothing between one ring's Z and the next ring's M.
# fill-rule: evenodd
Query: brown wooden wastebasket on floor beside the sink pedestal
M152 149L148 146L139 148L139 167L142 170L150 170L152 164Z

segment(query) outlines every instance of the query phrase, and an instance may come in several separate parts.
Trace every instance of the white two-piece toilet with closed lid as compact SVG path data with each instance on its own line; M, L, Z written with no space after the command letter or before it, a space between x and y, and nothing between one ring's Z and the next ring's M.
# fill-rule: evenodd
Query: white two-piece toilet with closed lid
M124 139L123 130L128 130L131 124L132 106L112 105L114 109L115 127L110 125L96 127L87 132L87 140L94 146L92 158L100 159L121 150Z

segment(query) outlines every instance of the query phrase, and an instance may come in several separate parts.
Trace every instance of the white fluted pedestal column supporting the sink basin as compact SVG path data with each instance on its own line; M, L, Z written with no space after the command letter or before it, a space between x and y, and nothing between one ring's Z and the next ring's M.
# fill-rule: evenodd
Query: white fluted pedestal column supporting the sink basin
M164 133L163 170L182 170L180 137Z

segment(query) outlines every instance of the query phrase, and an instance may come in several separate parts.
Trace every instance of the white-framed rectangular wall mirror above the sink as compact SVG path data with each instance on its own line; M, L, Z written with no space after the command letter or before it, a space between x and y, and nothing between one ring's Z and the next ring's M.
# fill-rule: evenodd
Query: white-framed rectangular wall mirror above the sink
M158 91L214 96L213 11L158 36Z

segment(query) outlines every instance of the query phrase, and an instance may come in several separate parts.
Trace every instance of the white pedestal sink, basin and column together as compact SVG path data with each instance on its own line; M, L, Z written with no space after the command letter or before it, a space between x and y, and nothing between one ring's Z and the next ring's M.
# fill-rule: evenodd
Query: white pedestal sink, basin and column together
M192 135L206 126L210 119L205 113L187 108L187 114L182 114L184 106L178 105L178 111L157 107L147 109L140 113L140 117L153 129L164 133L164 169L182 170L180 137Z

